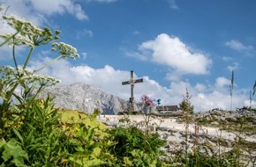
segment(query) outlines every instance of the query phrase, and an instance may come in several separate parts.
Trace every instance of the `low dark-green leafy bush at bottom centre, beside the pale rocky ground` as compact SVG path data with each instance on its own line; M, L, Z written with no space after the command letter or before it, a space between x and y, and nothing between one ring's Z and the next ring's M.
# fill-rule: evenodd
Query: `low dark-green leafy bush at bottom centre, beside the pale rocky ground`
M117 163L128 166L150 166L161 163L161 147L166 142L157 134L144 134L138 127L115 127L109 130L110 139L116 142L109 148L117 156ZM129 165L130 164L130 165Z

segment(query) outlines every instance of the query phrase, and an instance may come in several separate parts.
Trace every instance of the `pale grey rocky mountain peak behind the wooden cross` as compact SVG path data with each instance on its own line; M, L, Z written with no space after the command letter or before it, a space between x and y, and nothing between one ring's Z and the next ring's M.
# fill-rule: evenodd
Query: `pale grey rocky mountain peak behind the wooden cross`
M102 114L116 114L122 111L124 99L103 92L89 84L51 86L41 91L39 98L54 97L56 107L93 113L98 108Z

